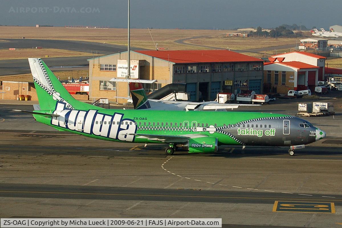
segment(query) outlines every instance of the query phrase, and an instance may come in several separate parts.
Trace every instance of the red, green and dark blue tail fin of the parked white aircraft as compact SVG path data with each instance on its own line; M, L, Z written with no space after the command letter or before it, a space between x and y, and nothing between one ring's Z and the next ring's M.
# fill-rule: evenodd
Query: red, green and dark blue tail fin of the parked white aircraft
M151 107L142 83L130 82L129 89L131 92L134 109L147 109Z

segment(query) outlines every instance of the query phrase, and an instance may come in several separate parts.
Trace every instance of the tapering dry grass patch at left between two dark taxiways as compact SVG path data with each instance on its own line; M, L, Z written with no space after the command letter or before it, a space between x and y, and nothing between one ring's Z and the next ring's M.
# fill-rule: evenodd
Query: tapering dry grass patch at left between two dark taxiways
M29 57L42 58L45 55L49 55L50 57L68 57L68 56L87 56L89 53L86 52L75 52L68 51L62 49L32 49L25 48L19 50L10 51L8 49L0 50L0 60L4 59L24 59Z

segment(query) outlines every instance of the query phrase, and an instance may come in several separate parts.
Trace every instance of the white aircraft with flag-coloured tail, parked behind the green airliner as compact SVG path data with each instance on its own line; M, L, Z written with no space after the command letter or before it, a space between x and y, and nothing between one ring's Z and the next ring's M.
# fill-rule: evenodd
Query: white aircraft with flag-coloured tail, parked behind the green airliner
M128 101L133 102L134 109L149 109L149 110L183 110L183 111L227 111L226 109L235 109L239 106L261 106L249 104L220 104L215 101L209 102L188 102L177 100L156 100L147 99L145 90L143 88L142 80L134 79L111 79L112 81L126 81L129 82L129 89L132 99ZM139 81L139 82L138 82Z

